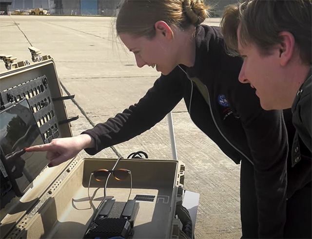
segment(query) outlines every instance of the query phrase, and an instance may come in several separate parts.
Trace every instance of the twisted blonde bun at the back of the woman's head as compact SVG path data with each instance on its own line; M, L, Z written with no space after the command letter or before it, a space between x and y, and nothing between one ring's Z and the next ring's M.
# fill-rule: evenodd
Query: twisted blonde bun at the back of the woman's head
M182 7L183 13L194 25L202 23L208 16L209 7L203 0L183 0Z

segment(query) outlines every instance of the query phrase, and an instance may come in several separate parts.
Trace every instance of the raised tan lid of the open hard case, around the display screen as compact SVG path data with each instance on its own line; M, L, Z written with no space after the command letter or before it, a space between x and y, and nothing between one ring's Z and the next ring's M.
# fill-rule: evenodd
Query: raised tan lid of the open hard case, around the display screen
M62 121L63 123L58 125L58 132L55 130L51 131L51 127L49 126L49 123L46 123L46 119L43 119L44 117L38 115L37 119L40 118L39 121L41 121L41 123L39 123L41 126L39 129L41 134L45 135L44 137L46 139L44 141L49 142L53 137L72 137L70 122L66 121L68 119L68 115L64 101L59 100L63 94L62 89L60 88L55 62L50 56L35 58L34 56L36 56L36 54L33 54L34 51L32 52L32 49L30 50L33 56L33 61L36 61L32 64L30 64L27 60L12 64L13 60L15 60L12 58L12 56L0 56L0 59L5 61L6 67L9 69L8 71L0 73L1 100L2 98L4 99L2 101L7 100L4 96L8 96L8 94L6 94L6 92L10 92L7 91L8 89L11 89L12 92L16 93L16 89L22 88L20 93L21 96L13 96L15 97L14 101L19 101L19 97L26 97L29 101L32 99L33 103L36 103L34 101L36 98L38 102L42 102L42 97L40 94L38 94L40 93L40 90L37 91L35 89L36 86L35 88L32 88L32 86L28 87L30 89L26 89L27 87L25 88L24 86L26 85L26 82L32 81L35 83L36 80L38 82L42 82L42 84L46 83L50 90L49 98L51 97L51 99L49 99L49 101L53 102L49 108L49 112L53 111L52 114L54 114L54 118L57 119L58 122ZM38 53L38 51L36 53ZM31 84L28 83L27 85L29 86ZM43 98L46 99L47 97L43 96ZM52 99L57 100L52 101ZM5 102L1 103L3 104ZM30 102L29 104L32 105ZM68 168L73 160L74 159L68 160L67 162L64 162L53 168L46 167L32 182L30 189L27 190L21 198L15 197L11 199L1 209L0 238L5 237L19 223L19 221L31 211L31 209L33 209L35 206L38 206L40 203L39 199L42 197L42 195L46 194L47 191L56 183L56 180Z

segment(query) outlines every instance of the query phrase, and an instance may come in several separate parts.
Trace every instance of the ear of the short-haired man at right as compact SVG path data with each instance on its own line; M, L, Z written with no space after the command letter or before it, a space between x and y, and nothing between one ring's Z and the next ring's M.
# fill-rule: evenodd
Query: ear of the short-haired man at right
M281 32L279 34L281 43L279 44L279 60L282 66L287 65L287 63L292 59L295 48L295 40L290 32Z

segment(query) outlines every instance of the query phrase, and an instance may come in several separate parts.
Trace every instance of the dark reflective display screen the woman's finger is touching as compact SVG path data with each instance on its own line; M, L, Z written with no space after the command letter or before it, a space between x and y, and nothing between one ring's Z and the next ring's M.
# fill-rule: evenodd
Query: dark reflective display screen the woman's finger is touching
M20 100L0 112L0 146L4 155L1 160L17 195L22 194L48 164L45 152L25 152L24 148L43 143L27 100Z

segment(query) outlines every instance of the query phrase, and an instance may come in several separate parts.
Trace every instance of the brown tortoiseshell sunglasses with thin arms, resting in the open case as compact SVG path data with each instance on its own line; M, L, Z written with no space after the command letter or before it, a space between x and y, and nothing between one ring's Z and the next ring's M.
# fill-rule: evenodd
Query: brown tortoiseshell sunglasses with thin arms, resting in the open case
M128 200L130 198L131 195L131 191L132 191L132 175L131 175L131 171L127 170L127 169L116 169L116 170L107 170L107 169L99 169L96 171L93 171L90 175L90 179L89 179L89 186L88 186L88 197L89 197L89 202L90 205L92 206L92 199L90 198L90 194L89 194L89 190L90 190L90 183L91 183L91 178L92 176L97 180L97 181L106 181L105 182L105 186L104 186L104 199L106 198L106 185L107 185L107 180L109 178L109 176L113 174L114 178L117 180L125 180L128 178L128 176L130 175L130 181L131 181L131 187L130 187L130 193L128 196Z

